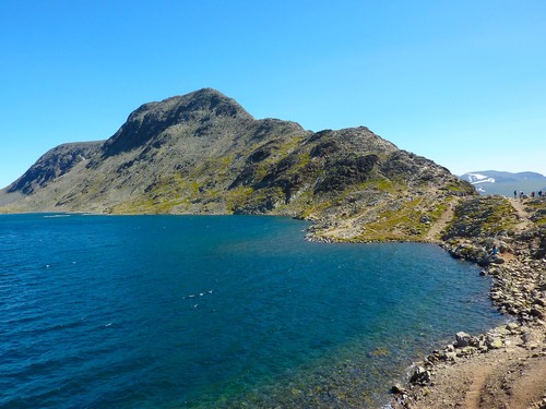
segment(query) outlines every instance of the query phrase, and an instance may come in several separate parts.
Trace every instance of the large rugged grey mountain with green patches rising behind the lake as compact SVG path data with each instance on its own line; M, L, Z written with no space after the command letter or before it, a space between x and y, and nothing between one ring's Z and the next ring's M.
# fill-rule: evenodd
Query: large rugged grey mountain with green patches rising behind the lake
M205 88L141 106L107 141L49 151L9 194L0 212L278 214L313 219L331 239L375 240L419 239L474 190L367 128L256 120Z

